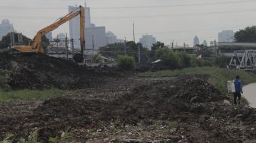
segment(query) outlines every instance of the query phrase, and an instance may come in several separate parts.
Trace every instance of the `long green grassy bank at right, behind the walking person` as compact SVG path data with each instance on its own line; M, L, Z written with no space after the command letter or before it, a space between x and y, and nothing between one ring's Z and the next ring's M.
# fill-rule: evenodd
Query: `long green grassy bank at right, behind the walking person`
M250 84L256 82L256 75L242 70L233 70L218 67L197 67L197 68L184 68L181 70L164 70L157 72L145 72L139 74L144 77L175 77L181 75L192 75L195 77L206 77L209 79L210 84L213 84L219 91L227 92L226 82L235 79L236 75L240 75L243 84Z

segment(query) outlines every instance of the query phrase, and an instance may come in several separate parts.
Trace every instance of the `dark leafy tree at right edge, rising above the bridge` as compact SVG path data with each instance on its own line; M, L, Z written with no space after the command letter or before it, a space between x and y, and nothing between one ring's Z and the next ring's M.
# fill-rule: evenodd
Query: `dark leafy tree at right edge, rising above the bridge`
M256 26L246 27L235 33L235 42L256 43Z

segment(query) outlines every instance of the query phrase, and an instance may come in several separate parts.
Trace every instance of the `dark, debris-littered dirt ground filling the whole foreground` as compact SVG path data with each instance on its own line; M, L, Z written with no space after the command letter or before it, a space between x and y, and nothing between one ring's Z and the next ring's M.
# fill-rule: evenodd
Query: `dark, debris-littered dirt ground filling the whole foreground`
M2 103L0 139L39 129L48 142L69 129L75 142L256 142L255 111L193 77L108 78L72 95Z

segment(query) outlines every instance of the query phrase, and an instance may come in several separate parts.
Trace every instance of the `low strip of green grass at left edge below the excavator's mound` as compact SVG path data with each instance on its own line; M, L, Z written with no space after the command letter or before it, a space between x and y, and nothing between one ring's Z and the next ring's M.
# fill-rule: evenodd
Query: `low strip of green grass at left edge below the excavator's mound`
M60 97L67 94L67 91L59 89L51 90L21 90L21 91L0 91L0 102L10 102L13 100L35 100L39 98Z

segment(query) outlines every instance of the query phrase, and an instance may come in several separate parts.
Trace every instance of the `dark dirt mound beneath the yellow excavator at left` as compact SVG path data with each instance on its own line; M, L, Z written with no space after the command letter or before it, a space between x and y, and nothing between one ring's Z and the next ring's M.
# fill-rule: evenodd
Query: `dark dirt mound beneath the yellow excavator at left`
M5 71L6 84L12 89L93 87L101 83L106 75L89 71L65 59L46 55L0 54L0 74L3 71Z

